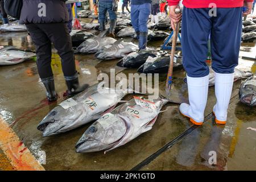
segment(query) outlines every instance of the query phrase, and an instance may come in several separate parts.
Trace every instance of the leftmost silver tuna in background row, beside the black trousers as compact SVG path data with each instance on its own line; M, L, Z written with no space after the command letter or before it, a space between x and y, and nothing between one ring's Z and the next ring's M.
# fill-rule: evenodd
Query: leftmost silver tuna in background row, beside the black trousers
M100 35L96 36L96 38L85 40L85 42L77 47L76 51L79 53L95 53L104 46L114 44L117 40L105 36L107 31L108 30L102 32Z

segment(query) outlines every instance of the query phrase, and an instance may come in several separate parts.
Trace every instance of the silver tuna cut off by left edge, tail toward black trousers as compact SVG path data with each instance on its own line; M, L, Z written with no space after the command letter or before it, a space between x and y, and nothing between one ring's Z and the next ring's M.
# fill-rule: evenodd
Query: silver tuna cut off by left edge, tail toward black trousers
M0 46L0 65L14 65L36 56L32 51L24 51L13 46Z

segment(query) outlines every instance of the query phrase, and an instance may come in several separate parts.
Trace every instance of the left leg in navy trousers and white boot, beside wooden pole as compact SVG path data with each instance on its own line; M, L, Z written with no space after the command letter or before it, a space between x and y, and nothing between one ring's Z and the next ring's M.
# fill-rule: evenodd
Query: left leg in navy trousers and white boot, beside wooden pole
M195 125L202 125L207 104L209 68L207 42L212 28L208 9L184 7L182 16L181 45L183 67L187 72L189 105L181 104L180 112Z

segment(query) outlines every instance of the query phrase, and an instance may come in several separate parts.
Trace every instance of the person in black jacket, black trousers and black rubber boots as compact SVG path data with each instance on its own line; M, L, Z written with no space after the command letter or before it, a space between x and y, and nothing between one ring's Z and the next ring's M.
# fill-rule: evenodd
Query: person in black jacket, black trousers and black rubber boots
M46 14L39 14L39 3L46 4ZM88 88L88 84L80 86L76 71L71 36L68 29L69 15L65 0L23 0L20 24L26 24L27 30L36 46L36 64L38 73L46 88L49 102L57 100L54 77L51 68L52 43L61 57L64 78L69 96Z

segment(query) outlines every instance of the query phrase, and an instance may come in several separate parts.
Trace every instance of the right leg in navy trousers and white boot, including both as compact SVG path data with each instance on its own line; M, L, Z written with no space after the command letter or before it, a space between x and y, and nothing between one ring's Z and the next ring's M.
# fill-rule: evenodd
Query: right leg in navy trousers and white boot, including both
M241 44L242 8L217 9L211 31L212 69L217 103L213 107L218 124L225 124L232 94L234 68Z

